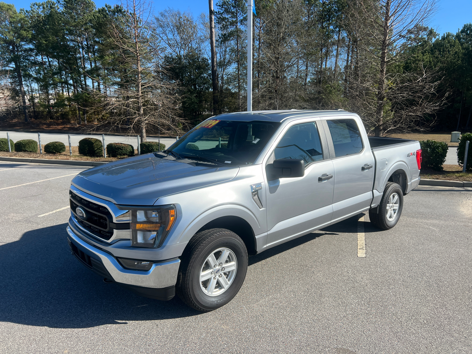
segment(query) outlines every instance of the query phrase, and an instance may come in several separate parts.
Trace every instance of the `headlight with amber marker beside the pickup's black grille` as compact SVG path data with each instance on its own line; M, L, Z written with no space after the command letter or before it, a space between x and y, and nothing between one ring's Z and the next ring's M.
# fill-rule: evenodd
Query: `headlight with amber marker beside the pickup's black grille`
M174 205L131 210L131 245L159 247L176 221Z

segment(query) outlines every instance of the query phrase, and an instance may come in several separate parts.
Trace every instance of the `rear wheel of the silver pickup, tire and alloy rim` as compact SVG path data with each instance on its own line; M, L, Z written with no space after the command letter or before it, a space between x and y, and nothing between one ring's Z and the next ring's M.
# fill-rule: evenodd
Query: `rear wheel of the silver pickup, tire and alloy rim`
M369 210L371 223L382 230L393 228L403 209L403 190L400 185L387 182L379 207ZM377 210L378 212L375 212Z

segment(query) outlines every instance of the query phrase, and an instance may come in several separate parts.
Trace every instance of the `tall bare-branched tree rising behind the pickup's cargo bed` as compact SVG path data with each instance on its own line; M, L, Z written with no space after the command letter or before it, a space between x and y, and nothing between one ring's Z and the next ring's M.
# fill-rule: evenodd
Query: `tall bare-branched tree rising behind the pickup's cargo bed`
M439 96L425 99L435 94L440 77L422 65L414 73L393 67L409 59L413 54L408 47L426 37L436 0L350 0L348 4L345 25L352 69L346 71L351 106L363 114L376 136L398 127L417 127L418 119L442 105Z

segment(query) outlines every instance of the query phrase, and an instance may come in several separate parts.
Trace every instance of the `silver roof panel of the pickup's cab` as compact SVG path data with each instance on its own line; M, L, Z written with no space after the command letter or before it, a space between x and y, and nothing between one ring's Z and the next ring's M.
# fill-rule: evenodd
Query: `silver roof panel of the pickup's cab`
M312 118L333 115L352 115L353 113L345 110L253 110L250 112L223 113L210 119L224 120L267 120L271 122L282 122L288 118Z

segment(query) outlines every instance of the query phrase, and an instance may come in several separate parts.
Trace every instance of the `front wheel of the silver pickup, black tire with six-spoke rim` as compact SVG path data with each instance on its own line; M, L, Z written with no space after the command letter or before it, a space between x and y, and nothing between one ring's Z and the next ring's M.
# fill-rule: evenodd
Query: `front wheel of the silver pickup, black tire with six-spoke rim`
M246 245L234 232L212 228L195 234L182 255L178 297L195 310L216 310L243 285L247 260Z

